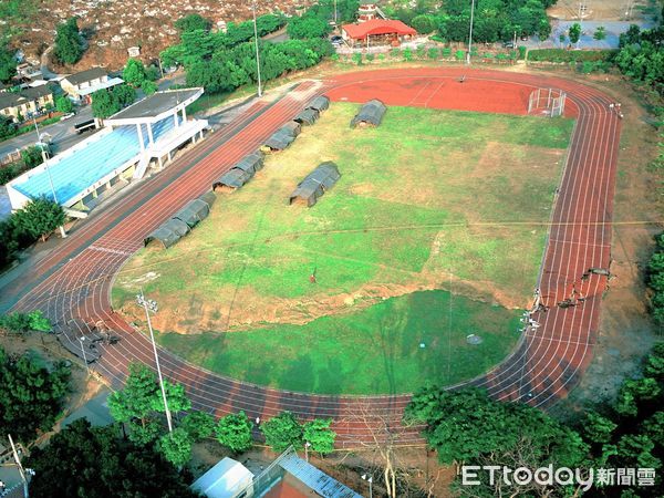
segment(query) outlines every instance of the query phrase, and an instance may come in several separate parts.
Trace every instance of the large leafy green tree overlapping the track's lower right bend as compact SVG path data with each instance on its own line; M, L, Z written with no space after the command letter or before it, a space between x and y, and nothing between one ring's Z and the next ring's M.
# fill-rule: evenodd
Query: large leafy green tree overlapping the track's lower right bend
M405 419L426 424L424 436L444 464L573 468L589 454L579 434L543 412L492 401L478 388L449 392L426 386L413 395Z

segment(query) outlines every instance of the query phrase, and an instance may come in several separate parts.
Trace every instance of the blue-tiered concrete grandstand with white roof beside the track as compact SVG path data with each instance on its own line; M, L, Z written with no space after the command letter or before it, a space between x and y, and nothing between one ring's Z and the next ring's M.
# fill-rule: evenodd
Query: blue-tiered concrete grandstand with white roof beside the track
M175 151L203 138L208 122L186 112L200 95L203 89L157 92L114 114L101 132L8 183L11 208L44 196L70 215L85 212L104 193L142 178L151 163L163 167Z

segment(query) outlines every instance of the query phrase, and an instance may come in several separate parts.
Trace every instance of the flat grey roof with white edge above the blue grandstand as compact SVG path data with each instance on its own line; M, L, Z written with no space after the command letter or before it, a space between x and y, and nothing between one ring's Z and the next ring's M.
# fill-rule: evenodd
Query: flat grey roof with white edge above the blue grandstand
M203 95L203 89L165 90L129 105L105 122L112 126L154 123L184 110L200 95Z

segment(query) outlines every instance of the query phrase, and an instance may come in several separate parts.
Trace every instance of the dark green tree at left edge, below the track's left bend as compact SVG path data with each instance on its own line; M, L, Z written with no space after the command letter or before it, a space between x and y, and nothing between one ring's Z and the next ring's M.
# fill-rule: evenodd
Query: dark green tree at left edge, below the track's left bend
M38 430L50 430L70 390L70 369L55 363L52 372L27 354L10 357L0 347L0 437L11 434L30 443Z

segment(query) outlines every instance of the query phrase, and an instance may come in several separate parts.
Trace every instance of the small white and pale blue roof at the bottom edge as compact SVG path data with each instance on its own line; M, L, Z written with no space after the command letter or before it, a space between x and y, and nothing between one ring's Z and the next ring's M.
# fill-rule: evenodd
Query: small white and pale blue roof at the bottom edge
M207 498L235 498L251 485L253 474L239 461L224 458L190 486Z

